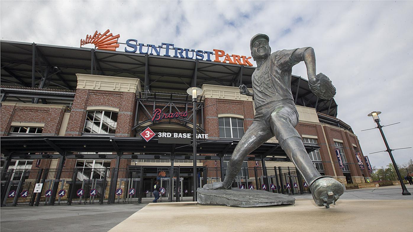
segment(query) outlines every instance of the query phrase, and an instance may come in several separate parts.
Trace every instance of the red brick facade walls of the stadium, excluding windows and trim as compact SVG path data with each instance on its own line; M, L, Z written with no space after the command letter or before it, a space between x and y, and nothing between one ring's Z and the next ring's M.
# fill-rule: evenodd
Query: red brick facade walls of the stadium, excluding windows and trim
M212 93L212 92L211 92ZM132 127L135 120L135 93L126 91L108 91L99 89L76 89L76 95L70 109L69 121L66 127L65 136L81 136L85 125L85 118L88 108L93 110L105 110L104 108L114 108L118 110L118 120L116 127L116 137L131 137L135 136ZM228 98L213 98L207 97L204 101L204 129L206 134L209 134L209 139L219 139L218 117L220 115L234 115L243 119L244 132L251 126L254 119L254 106L250 100L235 100ZM6 103L2 104L1 108L1 136L7 136L12 122L19 123L44 123L43 136L57 136L62 125L62 118L67 108L64 106L50 107L41 104L21 104L21 103ZM149 112L151 113L151 111ZM200 116L200 115L199 115ZM147 120L145 112L140 112L137 115L138 121ZM228 117L228 116L225 116ZM191 120L191 119L188 119ZM198 118L200 122L200 118ZM296 127L300 135L315 136L317 143L320 146L320 156L325 170L325 175L335 176L339 181L345 182L345 177L342 169L339 168L337 157L335 155L334 140L343 141L343 149L347 157L351 178L354 183L361 183L364 177L369 177L366 169L364 173L359 169L356 157L354 155L354 145L356 150L363 152L358 142L357 137L350 131L334 127L320 122L300 121ZM207 154L203 154L207 155ZM36 160L33 162L33 169ZM42 160L40 168L49 168L50 160ZM130 165L130 159L121 159L120 168L126 168ZM203 161L203 164L208 167L214 167L214 160ZM363 159L365 166L366 163ZM116 160L111 161L111 167L116 166ZM247 162L249 167L254 167L254 161ZM76 166L75 159L67 159L64 168L74 168ZM221 167L219 161L217 166ZM259 162L259 166L262 166Z

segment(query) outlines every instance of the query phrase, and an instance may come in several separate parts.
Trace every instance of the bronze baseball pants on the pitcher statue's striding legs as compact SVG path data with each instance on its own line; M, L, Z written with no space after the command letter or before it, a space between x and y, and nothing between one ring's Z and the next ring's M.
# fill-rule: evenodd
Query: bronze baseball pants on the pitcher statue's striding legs
M297 108L290 99L269 102L257 108L251 127L242 136L231 156L223 186L229 188L240 172L244 158L273 136L309 185L320 178L301 136L294 128L297 124Z

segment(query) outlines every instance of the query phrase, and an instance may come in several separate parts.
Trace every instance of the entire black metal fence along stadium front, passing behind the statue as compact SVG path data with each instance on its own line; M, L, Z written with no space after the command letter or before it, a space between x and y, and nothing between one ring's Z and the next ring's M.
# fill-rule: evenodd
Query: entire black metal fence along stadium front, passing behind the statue
M1 173L1 206L141 203L142 197L152 197L153 178L150 182L144 180L144 170L9 169ZM199 187L222 181L225 171L226 168L204 168L197 175ZM180 174L180 167L158 168L157 180L164 188L158 202L179 202L192 196L193 177L182 178ZM288 195L309 193L304 178L292 167L243 167L232 186Z

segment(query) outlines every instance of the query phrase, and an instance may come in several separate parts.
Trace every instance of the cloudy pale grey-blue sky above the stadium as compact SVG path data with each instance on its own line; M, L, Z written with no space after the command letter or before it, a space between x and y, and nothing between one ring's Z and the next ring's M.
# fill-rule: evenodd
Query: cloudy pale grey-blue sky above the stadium
M273 51L311 46L317 72L337 88L338 118L350 124L364 155L385 150L375 122L381 111L390 148L413 143L413 1L1 1L2 40L79 47L95 30L119 42L174 43L248 55L256 33ZM120 50L120 49L118 49ZM254 63L255 66L255 63ZM306 77L304 63L293 74ZM395 150L399 164L413 150ZM386 152L369 155L374 166Z

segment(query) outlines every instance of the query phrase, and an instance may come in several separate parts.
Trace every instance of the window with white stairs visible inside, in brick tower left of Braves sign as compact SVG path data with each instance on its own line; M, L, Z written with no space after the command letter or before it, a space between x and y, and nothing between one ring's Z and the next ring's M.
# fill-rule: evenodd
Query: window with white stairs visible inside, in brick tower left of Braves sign
M115 134L117 121L117 112L88 111L83 133Z

